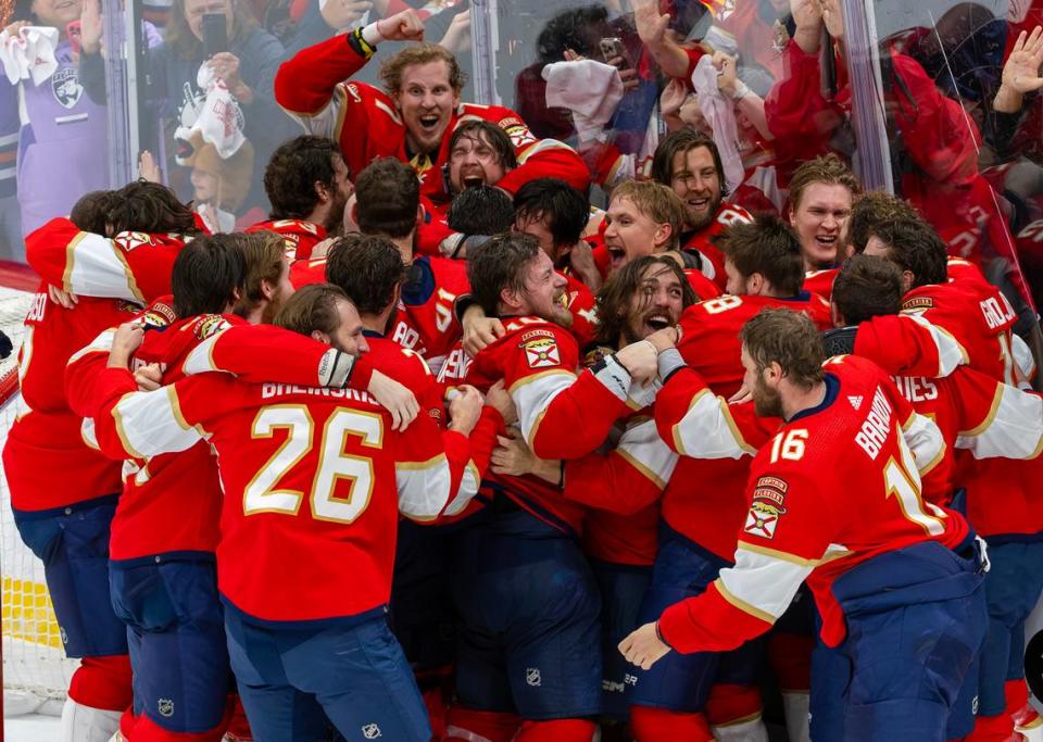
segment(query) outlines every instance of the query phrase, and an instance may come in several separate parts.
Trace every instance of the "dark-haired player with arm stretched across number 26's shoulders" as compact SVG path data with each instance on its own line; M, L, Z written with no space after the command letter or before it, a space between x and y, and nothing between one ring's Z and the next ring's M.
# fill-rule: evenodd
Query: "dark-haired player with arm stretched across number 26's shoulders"
M244 379L345 385L353 357L286 330L248 327L231 314L248 273L246 243L256 241L274 243L281 259L280 240L266 234L204 237L181 250L171 278L173 307L153 302L142 315L154 331L135 351L136 368L155 364L167 383L224 370ZM85 417L97 412L113 334L102 334L66 368L70 405ZM110 583L127 625L137 718L124 717L121 731L141 742L216 742L227 726L230 681L214 568L222 499L216 465L201 441L183 453L129 461L124 470Z

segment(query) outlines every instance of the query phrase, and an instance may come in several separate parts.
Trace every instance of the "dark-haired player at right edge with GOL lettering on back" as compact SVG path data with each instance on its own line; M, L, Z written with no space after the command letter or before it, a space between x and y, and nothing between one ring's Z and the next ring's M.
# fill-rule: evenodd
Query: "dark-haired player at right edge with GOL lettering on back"
M946 282L945 244L937 232L918 221L897 219L870 230L866 254L895 263L902 271L903 311L919 313L959 343L960 361L992 379L1015 385L1027 375L1020 338L1010 328L1017 319L1006 298L981 280ZM855 352L883 361L892 374L944 376L908 359L888 352L880 343L863 344ZM1035 542L1043 523L1032 504L1032 477L1027 464L1002 460L964 458L957 474L967 490L967 517L975 529L995 544L995 575L987 582L990 628L982 653L981 686L973 735L1004 739L1013 729L1011 715L1025 705L1021 680L1023 631L1021 621L1038 599L1034 579L1026 569L1033 564ZM1007 682L1009 681L1009 682ZM973 739L973 738L972 738Z

